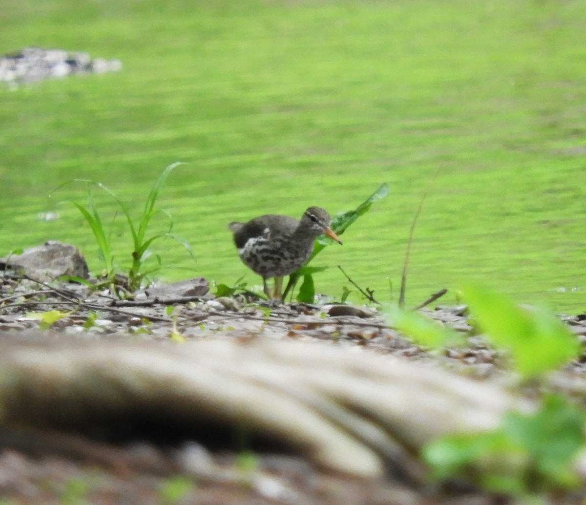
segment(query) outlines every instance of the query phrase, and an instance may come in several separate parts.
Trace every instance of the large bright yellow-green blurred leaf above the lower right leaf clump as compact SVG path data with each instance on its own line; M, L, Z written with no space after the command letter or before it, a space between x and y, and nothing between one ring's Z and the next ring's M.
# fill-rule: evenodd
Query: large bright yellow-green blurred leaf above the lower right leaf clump
M478 326L495 346L510 351L523 378L558 367L580 353L578 339L546 309L520 308L506 296L471 283L462 294Z

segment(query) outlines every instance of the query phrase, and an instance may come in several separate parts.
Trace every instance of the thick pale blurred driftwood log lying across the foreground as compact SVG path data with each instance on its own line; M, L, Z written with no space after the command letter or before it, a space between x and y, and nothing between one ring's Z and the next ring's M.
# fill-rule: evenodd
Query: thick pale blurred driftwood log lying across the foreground
M413 455L425 443L532 408L493 384L335 344L0 338L3 424L79 428L148 411L183 425L246 425L324 468L364 477L390 460L418 479Z

